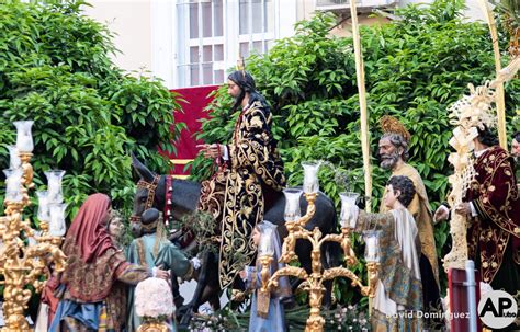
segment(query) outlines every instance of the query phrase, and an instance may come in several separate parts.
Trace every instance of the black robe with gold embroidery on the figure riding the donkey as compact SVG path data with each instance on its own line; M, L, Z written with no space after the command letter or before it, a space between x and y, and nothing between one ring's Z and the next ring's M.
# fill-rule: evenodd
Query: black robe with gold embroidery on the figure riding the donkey
M285 185L271 123L272 115L261 102L244 108L228 145L227 167L202 183L199 208L219 221L222 288L229 286L255 255L251 233L263 219L267 192L280 192Z

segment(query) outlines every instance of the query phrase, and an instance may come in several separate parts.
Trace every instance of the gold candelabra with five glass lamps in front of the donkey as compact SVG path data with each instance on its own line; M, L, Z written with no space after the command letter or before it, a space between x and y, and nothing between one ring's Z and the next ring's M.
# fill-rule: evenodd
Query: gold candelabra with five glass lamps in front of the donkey
M364 296L374 297L375 286L377 283L377 268L378 268L378 243L377 238L371 237L366 239L368 255L365 256L369 268L369 285L364 286L361 278L358 277L348 267L339 266L324 270L321 265L321 245L327 241L338 242L343 249L344 261L348 266L352 266L358 262L355 254L351 248L350 234L351 228L355 225L355 217L353 213L353 206L358 194L344 193L341 194L341 234L327 234L323 237L319 228L315 227L313 230L305 229L305 225L313 218L316 211L316 197L318 195L318 178L317 172L319 169L319 162L304 162L304 191L299 190L285 190L285 226L289 234L284 239L282 248L281 262L286 264L297 261L298 257L294 252L294 248L297 239L306 239L313 244L312 257L312 273L307 272L297 266L285 266L278 270L272 276L270 275L269 267L273 260L272 253L269 250L262 248L262 242L259 248L259 260L262 265L260 273L261 288L260 293L269 294L273 287L278 287L278 279L281 276L295 276L301 279L305 279L302 284L304 290L309 294L309 306L310 316L307 319L305 331L307 332L321 332L324 331L325 319L320 314L321 300L325 291L324 282L334 279L336 277L348 277L352 281L353 286L359 286L361 293ZM299 213L299 197L305 193L307 199L307 210L304 216L301 217ZM265 241L270 243L270 241ZM263 254L262 254L263 253Z

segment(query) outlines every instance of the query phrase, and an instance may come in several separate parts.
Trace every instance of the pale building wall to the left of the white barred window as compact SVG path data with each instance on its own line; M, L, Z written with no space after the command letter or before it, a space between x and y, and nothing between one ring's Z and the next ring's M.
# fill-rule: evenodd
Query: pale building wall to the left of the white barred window
M89 0L84 14L105 23L121 51L113 56L127 71L152 69L151 0Z

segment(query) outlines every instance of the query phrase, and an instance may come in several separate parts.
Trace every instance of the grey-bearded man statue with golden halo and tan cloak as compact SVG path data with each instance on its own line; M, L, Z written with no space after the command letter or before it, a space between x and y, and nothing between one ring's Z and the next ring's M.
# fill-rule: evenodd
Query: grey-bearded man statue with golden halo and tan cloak
M385 127L384 123L392 123ZM381 168L392 172L392 176L408 176L416 187L416 194L408 205L408 211L414 216L419 230L421 244L420 273L423 289L425 310L438 307L440 300L439 286L439 264L437 257L436 239L433 236L432 211L426 193L425 183L419 172L406 161L408 160L408 141L410 134L394 117L382 118L384 135L380 139ZM397 127L397 130L396 130ZM386 188L385 188L386 194ZM387 208L382 203L381 213L386 213Z

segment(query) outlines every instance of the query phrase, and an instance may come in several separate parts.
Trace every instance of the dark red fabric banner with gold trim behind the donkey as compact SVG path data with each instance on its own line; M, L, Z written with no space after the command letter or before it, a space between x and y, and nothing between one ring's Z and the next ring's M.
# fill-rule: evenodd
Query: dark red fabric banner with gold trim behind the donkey
M174 169L171 174L177 175L177 178L185 178L190 174L189 170L184 171L184 165L192 161L199 153L196 145L203 144L202 140L195 139L195 136L201 131L201 119L208 117L207 113L203 112L213 100L208 94L216 89L218 89L218 85L171 90L179 93L180 96L185 100L185 102L180 102L183 112L176 113L176 122L183 122L188 127L188 129L181 131L179 140L174 144L177 154L168 154L161 151L161 153L167 154L173 163Z

